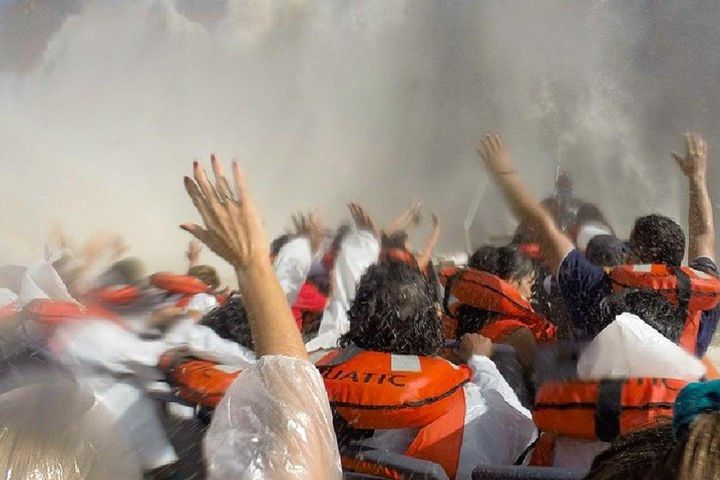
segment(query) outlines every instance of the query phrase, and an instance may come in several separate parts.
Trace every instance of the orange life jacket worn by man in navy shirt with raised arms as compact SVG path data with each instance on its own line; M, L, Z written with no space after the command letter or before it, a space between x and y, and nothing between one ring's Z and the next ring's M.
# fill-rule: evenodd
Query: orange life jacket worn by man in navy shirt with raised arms
M609 273L615 292L642 288L662 293L687 311L685 327L678 344L690 353L697 351L702 312L720 303L720 280L689 267L667 265L623 265Z

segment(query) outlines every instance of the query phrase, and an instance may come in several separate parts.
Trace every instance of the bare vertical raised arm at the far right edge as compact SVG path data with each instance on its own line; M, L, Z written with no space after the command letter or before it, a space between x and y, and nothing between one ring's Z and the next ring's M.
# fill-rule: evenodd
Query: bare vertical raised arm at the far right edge
M675 152L671 155L690 186L688 259L707 257L714 261L715 223L707 188L707 144L697 133L686 133L685 143L685 157Z

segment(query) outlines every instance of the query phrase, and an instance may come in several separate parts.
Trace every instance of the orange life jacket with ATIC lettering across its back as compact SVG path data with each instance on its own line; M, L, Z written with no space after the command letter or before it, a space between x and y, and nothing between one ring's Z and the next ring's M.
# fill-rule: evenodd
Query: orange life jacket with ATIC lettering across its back
M462 387L472 376L467 366L357 348L330 352L317 366L330 405L351 427L419 428L405 455L438 463L454 478L465 423Z

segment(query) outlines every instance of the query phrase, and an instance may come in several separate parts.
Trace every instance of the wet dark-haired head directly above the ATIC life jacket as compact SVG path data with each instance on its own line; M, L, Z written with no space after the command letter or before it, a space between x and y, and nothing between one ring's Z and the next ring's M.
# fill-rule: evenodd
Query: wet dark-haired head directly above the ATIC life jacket
M443 347L432 288L417 267L372 265L360 280L341 346L405 355L436 355Z

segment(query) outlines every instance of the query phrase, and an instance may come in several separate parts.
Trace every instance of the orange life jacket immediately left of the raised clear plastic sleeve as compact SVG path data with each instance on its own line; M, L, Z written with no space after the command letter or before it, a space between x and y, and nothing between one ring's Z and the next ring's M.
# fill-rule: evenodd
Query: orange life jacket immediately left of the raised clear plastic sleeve
M178 397L185 401L215 408L241 370L208 360L186 358L176 362L172 352L163 355L158 368L165 372Z

